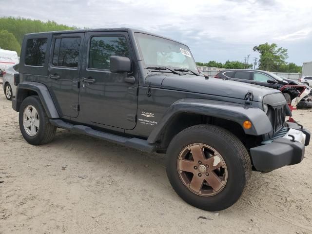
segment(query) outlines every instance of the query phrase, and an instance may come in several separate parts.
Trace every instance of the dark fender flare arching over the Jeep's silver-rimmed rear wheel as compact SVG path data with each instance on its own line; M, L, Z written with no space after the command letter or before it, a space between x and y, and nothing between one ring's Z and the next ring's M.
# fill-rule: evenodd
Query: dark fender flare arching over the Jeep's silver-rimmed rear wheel
M55 107L54 101L47 86L33 81L24 81L18 85L16 98L12 99L12 107L15 111L20 111L20 105L22 101L27 98L25 91L28 90L34 91L38 94L44 110L49 118L59 118L59 113Z

